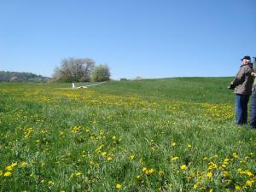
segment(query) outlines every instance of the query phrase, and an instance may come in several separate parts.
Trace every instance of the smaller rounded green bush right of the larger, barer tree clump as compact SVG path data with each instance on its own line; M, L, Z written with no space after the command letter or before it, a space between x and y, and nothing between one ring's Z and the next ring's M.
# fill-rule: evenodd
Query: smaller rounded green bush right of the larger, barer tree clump
M96 66L91 73L91 79L96 82L108 81L110 79L109 67L107 65Z

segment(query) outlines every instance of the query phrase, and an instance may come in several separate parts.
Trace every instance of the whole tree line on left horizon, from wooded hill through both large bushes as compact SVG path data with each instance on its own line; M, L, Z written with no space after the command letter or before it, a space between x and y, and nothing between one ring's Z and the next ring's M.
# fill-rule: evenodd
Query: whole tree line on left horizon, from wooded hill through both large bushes
M96 65L89 58L66 58L55 67L52 78L34 73L0 71L0 82L102 82L110 80L108 65Z

